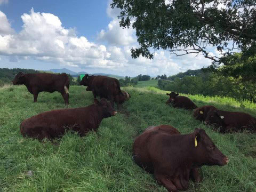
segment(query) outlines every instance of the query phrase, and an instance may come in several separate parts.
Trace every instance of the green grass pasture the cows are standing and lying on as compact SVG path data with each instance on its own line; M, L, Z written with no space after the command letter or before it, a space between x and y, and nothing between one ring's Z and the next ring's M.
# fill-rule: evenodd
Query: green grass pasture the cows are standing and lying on
M190 182L188 191L256 191L256 134L214 132L196 121L192 111L165 105L166 92L155 87L123 90L131 99L115 117L103 119L97 133L78 137L68 132L61 139L39 142L23 138L20 123L43 111L65 108L61 94L39 93L33 103L33 95L23 85L0 88L0 191L166 191L131 158L134 138L159 124L172 125L183 134L204 128L229 157L226 166L203 166L203 182ZM69 93L69 107L93 102L85 87L70 86ZM187 96L197 106L209 104L256 117L256 105L250 102Z

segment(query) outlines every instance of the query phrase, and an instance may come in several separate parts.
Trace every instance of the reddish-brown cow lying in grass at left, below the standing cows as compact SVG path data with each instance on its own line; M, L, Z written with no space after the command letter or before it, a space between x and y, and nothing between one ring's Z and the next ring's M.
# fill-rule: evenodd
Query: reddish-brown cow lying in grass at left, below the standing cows
M39 140L60 137L68 129L84 136L89 131L97 131L103 118L116 113L105 98L94 99L87 107L51 110L27 118L21 122L20 132L23 137Z

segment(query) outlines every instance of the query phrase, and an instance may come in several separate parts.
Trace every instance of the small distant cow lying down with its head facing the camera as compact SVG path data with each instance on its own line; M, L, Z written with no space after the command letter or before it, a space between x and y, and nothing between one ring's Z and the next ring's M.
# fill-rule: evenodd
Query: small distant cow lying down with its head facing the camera
M173 107L177 108L184 108L184 109L196 109L197 106L193 101L191 101L189 98L185 96L178 96L179 93L166 93L166 95L169 95L170 98L166 101L167 105L172 104Z

